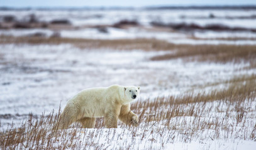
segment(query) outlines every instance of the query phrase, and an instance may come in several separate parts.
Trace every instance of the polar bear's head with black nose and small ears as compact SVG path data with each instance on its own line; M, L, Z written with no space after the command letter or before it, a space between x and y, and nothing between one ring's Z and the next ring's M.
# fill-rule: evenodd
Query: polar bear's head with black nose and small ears
M125 86L125 103L130 103L140 96L140 87Z

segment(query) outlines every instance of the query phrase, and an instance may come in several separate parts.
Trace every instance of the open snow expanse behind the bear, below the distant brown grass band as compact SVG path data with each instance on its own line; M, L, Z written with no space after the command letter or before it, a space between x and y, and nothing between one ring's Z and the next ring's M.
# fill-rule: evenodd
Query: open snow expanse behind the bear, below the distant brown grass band
M142 87L142 98L155 98L248 74L237 71L248 64L150 61L153 56L171 53L167 51L89 50L70 44L4 44L0 49L1 115L18 119L57 110L60 101L63 108L75 93L91 87L137 85ZM4 128L13 117L2 118Z

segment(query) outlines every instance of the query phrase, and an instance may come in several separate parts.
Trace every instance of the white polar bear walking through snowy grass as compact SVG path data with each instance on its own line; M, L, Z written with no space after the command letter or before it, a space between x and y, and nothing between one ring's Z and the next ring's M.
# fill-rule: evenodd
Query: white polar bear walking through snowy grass
M83 128L94 128L100 117L104 117L106 128L117 128L118 119L128 126L138 126L138 116L130 110L130 103L139 96L140 87L136 86L84 89L67 102L57 129L68 128L76 121Z

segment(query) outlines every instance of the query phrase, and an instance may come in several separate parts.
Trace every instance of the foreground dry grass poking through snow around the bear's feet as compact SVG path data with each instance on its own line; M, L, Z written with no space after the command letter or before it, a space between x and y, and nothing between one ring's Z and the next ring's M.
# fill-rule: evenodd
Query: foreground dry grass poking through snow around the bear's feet
M255 141L255 76L231 79L230 83L227 89L208 94L202 91L137 101L131 109L140 118L138 128L121 124L122 130L104 129L103 119L98 119L96 129L74 124L73 128L53 131L59 113L42 114L39 119L31 115L19 129L10 127L0 134L0 149L134 149L143 140L144 148L152 149L147 141L163 148L167 143L196 139ZM121 147L115 145L118 140Z

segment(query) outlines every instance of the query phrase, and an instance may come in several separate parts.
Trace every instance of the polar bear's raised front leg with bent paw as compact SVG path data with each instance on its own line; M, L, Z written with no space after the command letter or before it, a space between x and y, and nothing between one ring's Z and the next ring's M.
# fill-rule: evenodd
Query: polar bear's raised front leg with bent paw
M126 104L121 107L118 118L128 126L138 126L138 116L131 111L130 104Z

